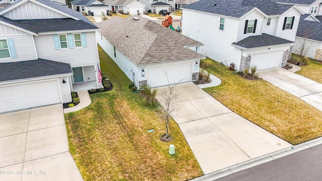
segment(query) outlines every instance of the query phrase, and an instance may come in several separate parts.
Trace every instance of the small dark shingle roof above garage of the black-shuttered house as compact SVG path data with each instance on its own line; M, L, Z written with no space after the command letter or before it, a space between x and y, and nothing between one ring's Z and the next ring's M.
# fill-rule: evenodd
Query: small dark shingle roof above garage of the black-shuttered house
M244 48L259 48L259 47L265 47L265 46L291 44L291 43L294 43L294 42L263 33L262 36L261 35L250 36L243 40L238 41L237 43L232 43L232 44L237 45L239 47L244 47Z

